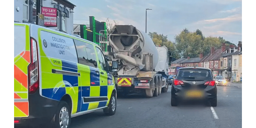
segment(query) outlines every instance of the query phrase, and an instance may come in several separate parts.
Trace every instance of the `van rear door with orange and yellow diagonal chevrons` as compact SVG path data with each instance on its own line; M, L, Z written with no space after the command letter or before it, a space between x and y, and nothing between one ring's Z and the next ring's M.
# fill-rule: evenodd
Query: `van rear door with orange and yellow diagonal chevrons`
M30 38L27 24L14 23L14 117L28 117Z

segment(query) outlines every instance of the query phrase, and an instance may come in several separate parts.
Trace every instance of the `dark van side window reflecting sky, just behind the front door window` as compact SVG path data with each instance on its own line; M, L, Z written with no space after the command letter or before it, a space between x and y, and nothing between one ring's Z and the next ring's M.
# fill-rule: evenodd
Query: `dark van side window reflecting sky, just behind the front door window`
M97 68L96 55L92 44L75 40L78 63Z

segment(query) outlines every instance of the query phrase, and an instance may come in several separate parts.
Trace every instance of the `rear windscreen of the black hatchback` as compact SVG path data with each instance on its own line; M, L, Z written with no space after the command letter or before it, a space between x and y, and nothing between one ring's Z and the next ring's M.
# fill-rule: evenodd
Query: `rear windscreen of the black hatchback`
M178 78L182 79L210 79L212 73L210 70L205 69L179 69Z

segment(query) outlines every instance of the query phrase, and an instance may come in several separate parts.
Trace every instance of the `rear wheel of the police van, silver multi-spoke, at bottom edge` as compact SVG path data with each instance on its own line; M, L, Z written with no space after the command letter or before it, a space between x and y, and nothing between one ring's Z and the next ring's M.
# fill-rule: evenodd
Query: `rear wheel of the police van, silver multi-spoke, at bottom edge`
M68 103L60 101L57 111L55 113L55 127L69 128L71 122L71 109Z

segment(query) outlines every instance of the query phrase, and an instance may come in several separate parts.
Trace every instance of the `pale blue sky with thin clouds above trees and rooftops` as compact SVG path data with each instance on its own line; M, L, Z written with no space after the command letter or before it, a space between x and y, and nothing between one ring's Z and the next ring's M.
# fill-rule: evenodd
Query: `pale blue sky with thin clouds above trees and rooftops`
M75 4L74 24L88 24L109 19L112 24L133 25L147 33L157 32L174 37L184 29L202 31L205 37L223 37L238 44L242 41L242 0L68 0Z

